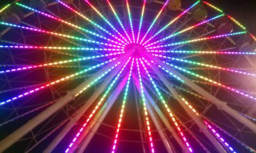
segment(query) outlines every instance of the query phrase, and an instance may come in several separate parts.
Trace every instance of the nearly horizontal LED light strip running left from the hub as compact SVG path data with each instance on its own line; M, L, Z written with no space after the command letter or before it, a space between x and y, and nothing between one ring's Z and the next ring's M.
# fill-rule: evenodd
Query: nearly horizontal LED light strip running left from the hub
M97 51L124 51L120 48L89 48L89 47L46 47L28 45L0 45L0 48L49 49L49 50L97 50Z

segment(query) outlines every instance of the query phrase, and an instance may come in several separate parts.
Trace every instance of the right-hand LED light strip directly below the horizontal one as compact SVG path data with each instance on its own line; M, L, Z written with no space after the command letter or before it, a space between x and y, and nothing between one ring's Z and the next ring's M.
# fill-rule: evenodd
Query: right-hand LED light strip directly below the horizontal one
M236 69L230 69L230 68L222 68L220 66L214 66L214 65L211 65L211 64L204 64L202 62L189 61L189 60L186 60L186 59L179 59L179 58L169 57L169 56L165 56L165 55L158 55L158 54L152 54L152 55L154 55L156 57L161 57L161 58L164 58L164 59L172 59L172 60L179 61L179 62L186 62L186 63L189 63L189 64L204 66L204 67L207 67L207 68L220 69L220 70L223 70L223 71L231 71L231 72L234 72L234 73L239 73L239 74L243 74L243 75L250 75L250 76L253 76L253 77L256 76L253 73L247 73L247 72L244 72L244 71L237 71Z

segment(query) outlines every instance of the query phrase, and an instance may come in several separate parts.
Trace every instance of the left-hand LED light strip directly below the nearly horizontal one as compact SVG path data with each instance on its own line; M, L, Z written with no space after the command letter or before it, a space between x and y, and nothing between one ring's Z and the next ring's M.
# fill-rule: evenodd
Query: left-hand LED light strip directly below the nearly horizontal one
M38 65L33 65L33 66L24 66L24 67L21 67L21 68L7 69L7 70L4 70L4 71L0 71L0 74L1 73L15 72L15 71L22 71L22 70L27 70L27 69L34 69L34 68L43 68L43 67L46 67L46 66L67 64L67 63L70 63L70 62L85 61L85 60L88 60L88 59L97 59L97 58L100 58L100 57L108 57L108 56L119 55L119 54L124 54L124 53L125 52L115 52L115 53L104 54L104 55L93 55L93 56L81 57L81 58L77 58L77 59L69 59L69 60L65 60L65 61L49 62L49 63L38 64Z

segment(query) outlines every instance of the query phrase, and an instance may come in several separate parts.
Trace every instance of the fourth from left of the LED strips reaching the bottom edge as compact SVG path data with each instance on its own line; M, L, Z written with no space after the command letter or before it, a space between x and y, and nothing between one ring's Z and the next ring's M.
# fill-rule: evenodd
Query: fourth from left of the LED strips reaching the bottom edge
M144 61L148 64L148 66L150 66L150 64L147 62L146 59L144 59ZM156 90L157 95L158 95L158 97L159 97L159 100L163 103L164 107L166 108L166 111L169 113L170 117L172 118L173 123L175 124L177 130L179 131L179 134L180 134L180 136L182 137L182 140L184 141L184 143L185 143L186 146L188 147L189 152L193 152L192 148L191 148L190 145L189 145L188 140L186 139L186 136L185 136L184 133L181 131L180 126L179 126L177 120L175 119L173 113L171 112L170 108L169 108L168 105L166 104L166 101L164 101L164 98L163 98L161 92L159 92L159 89L157 88L157 86L156 86L154 80L152 79L152 77L151 77L150 74L148 73L148 70L147 70L145 64L143 63L143 61L142 61L141 59L140 59L140 62L141 62L141 65L143 66L143 68L145 69L145 71L146 71L146 73L147 73L147 75L148 75L148 78L150 79L150 82L152 83L154 89Z

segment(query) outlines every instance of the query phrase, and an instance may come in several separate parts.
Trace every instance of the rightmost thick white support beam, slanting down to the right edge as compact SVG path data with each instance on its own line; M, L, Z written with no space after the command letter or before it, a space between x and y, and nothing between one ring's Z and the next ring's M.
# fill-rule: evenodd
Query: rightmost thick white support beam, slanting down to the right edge
M189 78L185 77L184 75L181 75L175 69L164 64L163 61L159 60L157 57L153 57L152 55L148 55L148 54L143 54L143 55L145 55L145 57L147 57L149 60L155 61L157 64L159 64L163 68L168 69L168 71L172 72L174 75L184 80L185 84L188 85L188 87L198 92L200 95L204 96L206 99L214 103L214 105L216 105L220 110L223 110L224 112L228 113L230 116L234 117L234 119L238 120L239 122L244 124L244 126L246 126L247 128L251 129L253 132L256 133L256 124L251 122L249 119L246 119L246 117L243 117L242 115L240 115L239 112L237 112L233 108L230 108L230 106L228 106L227 103L225 103L224 101L221 101L215 96L212 96L212 94L202 89L202 87L192 82Z

